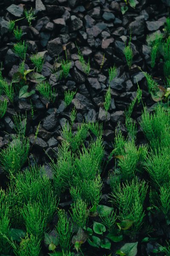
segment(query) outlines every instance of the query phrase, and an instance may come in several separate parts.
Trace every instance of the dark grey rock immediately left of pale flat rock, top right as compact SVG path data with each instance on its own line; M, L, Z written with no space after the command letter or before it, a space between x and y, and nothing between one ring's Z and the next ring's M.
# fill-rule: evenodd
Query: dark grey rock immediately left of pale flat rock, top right
M138 16L129 24L129 31L132 35L142 35L144 33L144 16Z

